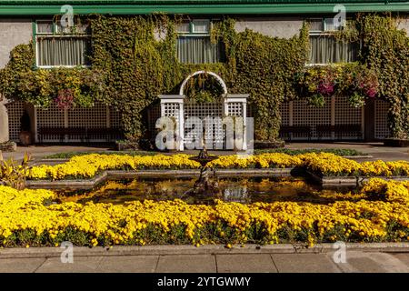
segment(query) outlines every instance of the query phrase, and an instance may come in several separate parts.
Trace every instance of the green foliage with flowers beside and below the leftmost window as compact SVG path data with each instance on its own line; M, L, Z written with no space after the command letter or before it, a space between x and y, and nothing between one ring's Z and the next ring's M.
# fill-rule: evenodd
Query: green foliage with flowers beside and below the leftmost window
M35 69L32 44L17 45L11 60L0 70L0 92L5 98L49 106L90 106L103 91L102 74L86 68ZM69 90L72 100L62 102L61 95Z

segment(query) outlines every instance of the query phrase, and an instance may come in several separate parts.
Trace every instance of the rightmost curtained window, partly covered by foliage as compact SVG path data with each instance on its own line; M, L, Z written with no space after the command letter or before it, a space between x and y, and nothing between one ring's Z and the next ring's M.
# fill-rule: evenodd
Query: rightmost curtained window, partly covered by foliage
M336 40L333 18L312 19L310 23L310 64L348 63L356 61L359 43Z

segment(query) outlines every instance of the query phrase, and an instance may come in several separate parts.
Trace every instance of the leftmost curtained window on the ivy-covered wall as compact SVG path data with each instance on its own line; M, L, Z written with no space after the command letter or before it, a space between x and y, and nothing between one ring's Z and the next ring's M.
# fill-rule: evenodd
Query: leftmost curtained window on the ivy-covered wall
M64 27L59 22L35 23L36 65L39 67L90 65L89 25Z

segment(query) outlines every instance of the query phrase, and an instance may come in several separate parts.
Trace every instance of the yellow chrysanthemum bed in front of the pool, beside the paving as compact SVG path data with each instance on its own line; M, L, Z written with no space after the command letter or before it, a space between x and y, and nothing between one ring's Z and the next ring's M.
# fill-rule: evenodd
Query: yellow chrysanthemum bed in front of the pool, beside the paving
M354 196L351 193L349 196ZM357 202L188 205L50 204L55 193L0 186L0 245L79 246L399 241L409 236L409 183L370 180Z

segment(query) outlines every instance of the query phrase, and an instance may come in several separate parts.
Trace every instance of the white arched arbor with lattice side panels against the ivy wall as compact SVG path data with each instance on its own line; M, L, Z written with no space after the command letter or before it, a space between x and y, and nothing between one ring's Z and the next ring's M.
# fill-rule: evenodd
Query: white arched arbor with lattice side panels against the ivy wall
M248 94L228 94L227 86L225 85L224 80L220 77L220 75L208 71L197 71L191 75L188 75L180 86L179 95L159 95L159 98L161 100L161 116L172 117L176 121L176 135L179 136L179 142L176 145L176 149L179 151L185 150L185 85L192 77L195 77L196 75L207 75L214 77L222 87L222 114L217 117L243 117L243 143L242 146L240 146L241 148L237 149L246 150L246 116Z

